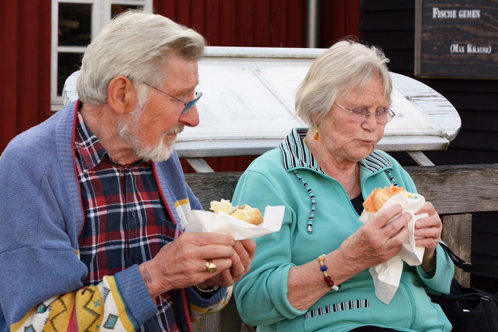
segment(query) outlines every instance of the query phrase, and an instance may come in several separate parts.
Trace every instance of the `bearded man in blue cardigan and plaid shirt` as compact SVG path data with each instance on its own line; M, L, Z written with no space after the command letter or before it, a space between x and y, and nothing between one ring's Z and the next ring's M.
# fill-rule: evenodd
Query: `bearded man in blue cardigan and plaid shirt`
M0 159L0 331L191 331L249 271L252 240L182 233L172 147L196 126L204 38L124 13L89 46L79 100ZM3 318L4 316L4 318Z

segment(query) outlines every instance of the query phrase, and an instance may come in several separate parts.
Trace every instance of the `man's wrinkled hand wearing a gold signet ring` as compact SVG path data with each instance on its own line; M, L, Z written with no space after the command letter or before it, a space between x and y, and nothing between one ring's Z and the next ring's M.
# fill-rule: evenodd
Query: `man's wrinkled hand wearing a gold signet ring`
M154 258L140 264L138 269L152 298L165 291L197 285L208 279L213 284L217 282L220 286L226 286L233 279L240 279L246 268L249 269L254 257L250 241L245 242L249 247L246 249L230 235L183 233L164 245ZM207 259L215 263L215 273L206 271Z

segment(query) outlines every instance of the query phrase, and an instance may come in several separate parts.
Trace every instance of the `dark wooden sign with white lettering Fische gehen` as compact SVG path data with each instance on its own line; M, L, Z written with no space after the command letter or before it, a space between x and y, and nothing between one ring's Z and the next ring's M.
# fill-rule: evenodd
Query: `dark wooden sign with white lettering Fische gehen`
M416 0L415 76L498 79L498 0Z

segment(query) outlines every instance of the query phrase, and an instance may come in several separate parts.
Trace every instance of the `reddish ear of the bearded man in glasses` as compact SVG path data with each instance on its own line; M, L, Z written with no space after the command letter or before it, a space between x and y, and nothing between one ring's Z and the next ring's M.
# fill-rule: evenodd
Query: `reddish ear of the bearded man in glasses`
M116 76L109 83L108 104L119 114L133 111L135 109L137 96L133 83L123 75Z

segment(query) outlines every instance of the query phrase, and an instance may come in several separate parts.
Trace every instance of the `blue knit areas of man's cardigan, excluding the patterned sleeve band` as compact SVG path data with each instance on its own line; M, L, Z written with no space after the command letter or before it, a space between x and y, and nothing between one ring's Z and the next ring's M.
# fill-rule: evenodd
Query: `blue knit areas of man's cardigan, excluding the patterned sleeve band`
M0 157L1 332L43 301L82 288L88 273L78 258L84 217L73 151L76 105L19 134ZM190 211L203 209L185 183L176 152L152 166L163 200L183 230ZM134 326L157 313L137 265L114 277ZM224 300L226 288L209 300L191 287L178 294L177 324L190 331L187 297L207 308Z

